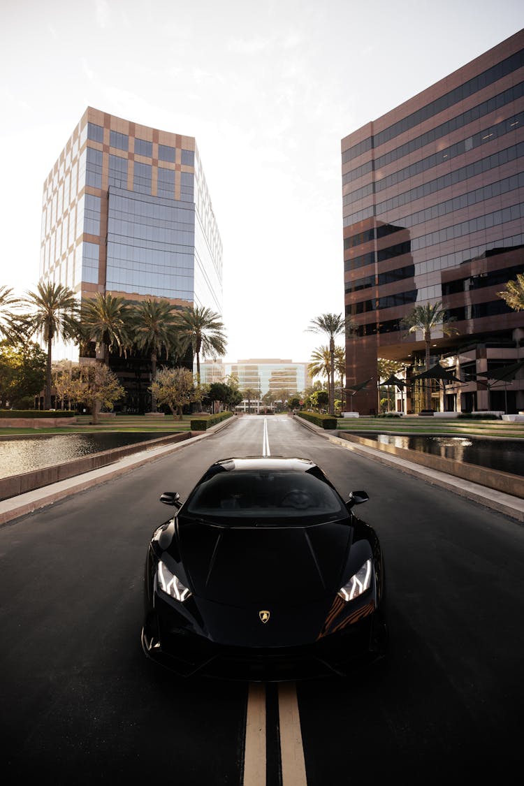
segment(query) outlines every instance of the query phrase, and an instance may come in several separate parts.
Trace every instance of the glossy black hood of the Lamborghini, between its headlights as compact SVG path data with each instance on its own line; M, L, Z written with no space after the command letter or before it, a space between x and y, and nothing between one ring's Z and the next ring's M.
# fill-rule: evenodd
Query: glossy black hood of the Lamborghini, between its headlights
M229 606L332 597L347 560L350 520L309 527L222 527L179 521L178 549L196 597Z

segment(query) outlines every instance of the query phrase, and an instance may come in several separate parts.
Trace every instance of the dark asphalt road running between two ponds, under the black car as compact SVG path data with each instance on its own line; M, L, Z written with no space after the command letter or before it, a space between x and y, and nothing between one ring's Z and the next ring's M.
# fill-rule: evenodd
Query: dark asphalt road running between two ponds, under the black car
M383 544L390 654L346 681L181 681L140 645L145 552L217 458L298 455ZM0 527L2 781L177 786L522 778L524 527L321 439L241 417Z

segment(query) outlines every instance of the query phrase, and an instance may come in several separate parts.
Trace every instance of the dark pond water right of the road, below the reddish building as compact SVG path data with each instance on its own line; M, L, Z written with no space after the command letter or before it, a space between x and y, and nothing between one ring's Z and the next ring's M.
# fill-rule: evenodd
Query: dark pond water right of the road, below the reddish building
M408 436L359 432L366 439L434 456L463 461L479 467L524 476L524 440L477 437Z

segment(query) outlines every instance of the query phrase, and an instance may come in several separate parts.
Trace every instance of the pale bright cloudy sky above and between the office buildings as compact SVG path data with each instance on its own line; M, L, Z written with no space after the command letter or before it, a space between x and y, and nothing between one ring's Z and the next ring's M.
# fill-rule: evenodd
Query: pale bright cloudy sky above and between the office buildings
M42 187L87 106L196 138L226 362L308 362L343 314L341 140L524 27L522 0L0 0L0 285L38 283Z

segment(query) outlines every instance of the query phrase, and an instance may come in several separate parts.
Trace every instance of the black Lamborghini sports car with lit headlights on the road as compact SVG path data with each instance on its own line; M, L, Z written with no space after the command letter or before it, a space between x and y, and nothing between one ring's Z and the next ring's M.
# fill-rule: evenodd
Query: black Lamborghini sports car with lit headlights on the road
M145 564L146 655L183 676L252 681L346 675L387 648L376 532L312 461L217 461Z

